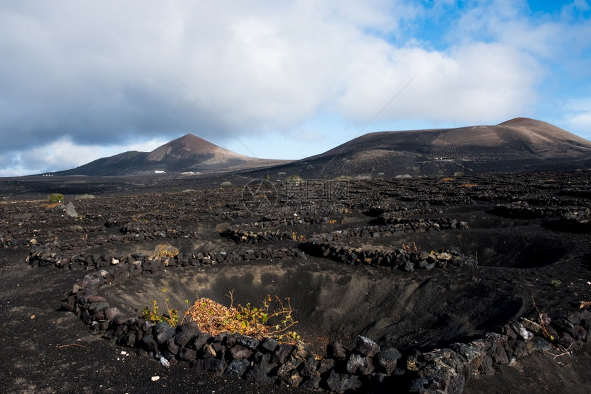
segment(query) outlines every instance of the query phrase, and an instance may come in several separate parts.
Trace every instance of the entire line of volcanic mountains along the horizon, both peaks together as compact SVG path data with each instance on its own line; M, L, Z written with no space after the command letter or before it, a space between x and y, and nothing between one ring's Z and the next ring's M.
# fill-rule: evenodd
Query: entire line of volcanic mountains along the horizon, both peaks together
M513 118L495 125L377 131L302 160L240 155L186 134L151 152L103 157L54 175L174 173L291 173L308 178L449 174L591 168L591 142L553 124ZM264 168L265 173L263 173ZM279 175L278 175L279 176Z

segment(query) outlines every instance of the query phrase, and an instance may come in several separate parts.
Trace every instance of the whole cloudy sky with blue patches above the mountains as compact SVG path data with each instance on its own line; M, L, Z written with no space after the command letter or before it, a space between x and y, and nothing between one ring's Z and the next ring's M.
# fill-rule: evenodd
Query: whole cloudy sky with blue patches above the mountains
M0 3L0 176L193 133L300 159L537 118L591 140L591 1Z

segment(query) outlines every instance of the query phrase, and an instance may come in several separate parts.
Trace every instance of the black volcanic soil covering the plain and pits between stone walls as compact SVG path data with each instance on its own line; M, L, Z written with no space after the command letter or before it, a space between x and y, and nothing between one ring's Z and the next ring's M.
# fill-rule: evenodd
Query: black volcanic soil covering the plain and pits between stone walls
M162 287L171 305L181 310L183 300L196 295L228 304L225 294L232 290L239 303L259 303L266 294L289 296L300 321L297 331L320 355L329 341L348 346L359 334L403 354L429 351L497 331L511 319L536 320L532 296L550 316L591 300L590 226L566 219L569 212L591 208L591 173L586 171L351 181L339 201L327 195L298 204L278 201L269 212L247 210L242 187L207 188L207 181L190 187L177 182L173 193L157 180L148 184L144 179L144 188L136 183L133 194L118 188L132 185L132 179L91 186L83 180L72 184L71 178L47 182L41 182L43 187L65 190L79 217L68 217L63 208L40 199L43 188L23 190L22 183L0 181L0 375L5 392L304 392L175 366L164 369L133 349L102 339L102 333L89 330L71 312L58 310L64 294L88 272L25 263L38 248L118 256L155 253L160 245L184 254L299 248L305 257L179 267L102 292L129 314L138 314L154 298L161 300ZM285 186L274 187L282 195ZM97 198L76 199L74 193ZM305 253L302 241L314 234L379 225L391 217L451 218L465 221L468 228L336 242L363 250L395 250L409 243L427 252L456 250L476 259L478 267L403 272ZM265 219L293 223L258 228ZM221 236L228 226L290 231L296 239L236 243ZM126 233L139 235L118 241ZM588 344L559 357L535 352L511 366L495 366L494 375L472 377L464 393L588 393L590 367ZM154 382L153 376L160 378Z

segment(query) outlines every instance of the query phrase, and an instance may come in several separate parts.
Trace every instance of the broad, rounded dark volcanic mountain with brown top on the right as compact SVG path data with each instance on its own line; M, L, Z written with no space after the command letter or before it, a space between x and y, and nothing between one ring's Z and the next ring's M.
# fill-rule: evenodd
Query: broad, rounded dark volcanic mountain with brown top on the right
M546 122L515 118L492 126L368 133L274 170L331 179L577 168L591 168L590 141Z

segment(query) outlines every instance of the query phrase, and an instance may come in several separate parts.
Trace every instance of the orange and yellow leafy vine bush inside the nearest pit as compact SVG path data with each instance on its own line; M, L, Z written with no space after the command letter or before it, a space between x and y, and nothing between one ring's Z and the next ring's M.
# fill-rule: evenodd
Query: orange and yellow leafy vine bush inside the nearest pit
M278 296L273 300L267 295L263 307L254 307L250 303L234 307L233 292L227 296L231 300L230 307L216 303L210 298L197 298L185 312L183 321L188 318L197 322L201 331L214 336L221 332L230 332L255 338L268 336L280 342L295 342L300 339L298 333L290 331L297 321L293 320L291 315L293 309L289 298L284 303Z

